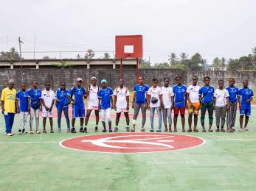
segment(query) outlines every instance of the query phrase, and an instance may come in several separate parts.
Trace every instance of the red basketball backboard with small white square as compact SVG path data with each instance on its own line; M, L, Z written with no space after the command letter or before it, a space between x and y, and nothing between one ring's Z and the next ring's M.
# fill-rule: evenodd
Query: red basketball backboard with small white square
M121 58L142 58L142 35L116 36L116 56Z

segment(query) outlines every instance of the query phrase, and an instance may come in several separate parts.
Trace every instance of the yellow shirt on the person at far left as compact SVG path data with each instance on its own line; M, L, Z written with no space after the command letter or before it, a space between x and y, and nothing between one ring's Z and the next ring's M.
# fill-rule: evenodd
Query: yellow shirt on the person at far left
M15 89L10 90L9 87L6 87L2 90L1 101L4 101L4 110L6 112L15 113L15 97Z

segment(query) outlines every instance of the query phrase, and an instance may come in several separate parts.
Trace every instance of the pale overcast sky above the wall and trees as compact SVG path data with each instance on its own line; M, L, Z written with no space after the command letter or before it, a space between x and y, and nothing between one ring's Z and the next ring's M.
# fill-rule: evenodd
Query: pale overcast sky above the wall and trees
M256 46L255 0L23 0L1 1L0 51L18 49L24 58L75 58L91 48L95 57L114 55L115 35L143 35L143 58L199 52L238 58ZM80 51L59 53L58 51Z

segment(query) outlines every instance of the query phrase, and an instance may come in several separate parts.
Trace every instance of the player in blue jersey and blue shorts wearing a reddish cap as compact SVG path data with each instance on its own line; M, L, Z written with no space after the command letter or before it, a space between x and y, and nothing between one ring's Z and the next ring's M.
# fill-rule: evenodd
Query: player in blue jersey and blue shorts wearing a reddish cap
M80 133L86 132L87 129L83 129L83 118L85 117L85 106L83 103L83 98L87 97L86 90L82 87L83 79L77 78L77 87L72 87L69 90L69 102L72 104L72 133L76 133L75 131L75 118L80 118ZM75 98L73 98L73 95Z

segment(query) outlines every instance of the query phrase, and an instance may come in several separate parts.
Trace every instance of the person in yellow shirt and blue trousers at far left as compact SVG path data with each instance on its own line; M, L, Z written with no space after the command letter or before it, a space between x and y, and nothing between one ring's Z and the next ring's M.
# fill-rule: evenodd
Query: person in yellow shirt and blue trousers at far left
M5 120L5 133L12 136L13 122L15 117L15 97L16 90L13 88L14 81L10 79L8 87L4 88L1 92L1 111L4 114Z

